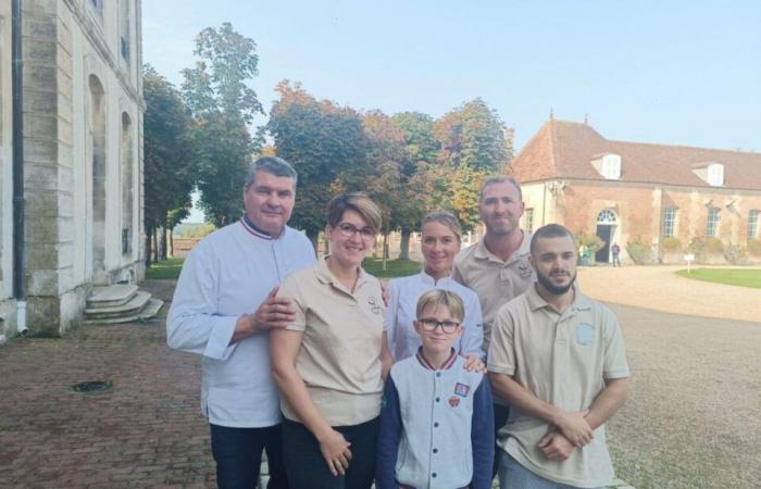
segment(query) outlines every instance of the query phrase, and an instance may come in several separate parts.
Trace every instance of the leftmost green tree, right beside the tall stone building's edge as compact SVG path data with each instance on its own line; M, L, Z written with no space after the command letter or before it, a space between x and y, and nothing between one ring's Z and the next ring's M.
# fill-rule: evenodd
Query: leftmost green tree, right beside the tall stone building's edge
M152 237L174 226L190 209L196 168L188 141L190 116L179 92L150 66L144 70L144 226L146 261L166 259L166 243L153 253Z

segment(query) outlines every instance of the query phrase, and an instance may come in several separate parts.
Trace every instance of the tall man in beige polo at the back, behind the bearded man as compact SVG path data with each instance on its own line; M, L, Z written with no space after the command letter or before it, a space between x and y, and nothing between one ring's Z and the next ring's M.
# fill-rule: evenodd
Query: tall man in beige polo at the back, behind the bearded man
M519 226L524 208L521 185L514 178L504 175L487 178L478 199L486 235L454 260L452 278L475 291L481 300L486 351L499 308L534 283L534 269L528 264L532 235ZM494 411L495 429L499 430L508 421L510 408L495 396Z

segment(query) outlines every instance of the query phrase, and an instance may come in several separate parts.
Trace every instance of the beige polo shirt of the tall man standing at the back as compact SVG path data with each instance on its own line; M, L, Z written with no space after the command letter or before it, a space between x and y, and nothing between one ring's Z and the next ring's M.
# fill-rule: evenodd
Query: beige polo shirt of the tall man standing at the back
M499 308L522 294L536 279L528 263L532 234L507 261L486 249L484 240L462 250L454 259L452 278L478 294L484 315L484 351L489 351L491 325Z

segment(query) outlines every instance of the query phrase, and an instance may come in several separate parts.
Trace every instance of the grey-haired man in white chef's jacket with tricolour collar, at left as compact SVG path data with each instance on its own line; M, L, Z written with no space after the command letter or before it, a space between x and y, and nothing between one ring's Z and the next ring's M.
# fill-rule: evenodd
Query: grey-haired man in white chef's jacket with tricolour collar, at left
M267 488L288 487L270 331L296 317L291 301L276 297L278 285L314 263L309 239L286 225L296 178L279 158L251 165L242 218L194 247L166 319L169 346L202 355L201 410L223 489L257 487L262 450L270 465Z

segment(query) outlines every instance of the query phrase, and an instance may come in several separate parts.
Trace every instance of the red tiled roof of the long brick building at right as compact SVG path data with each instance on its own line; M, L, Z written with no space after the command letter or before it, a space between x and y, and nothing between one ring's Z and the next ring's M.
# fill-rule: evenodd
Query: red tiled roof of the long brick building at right
M761 190L761 153L614 141L587 124L550 120L510 164L519 181L554 178L603 180L591 161L606 153L621 156L621 181L710 187L693 170L724 165L723 188Z

